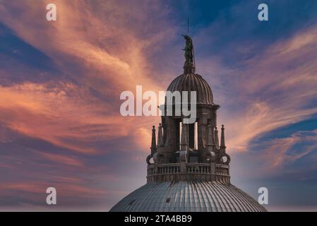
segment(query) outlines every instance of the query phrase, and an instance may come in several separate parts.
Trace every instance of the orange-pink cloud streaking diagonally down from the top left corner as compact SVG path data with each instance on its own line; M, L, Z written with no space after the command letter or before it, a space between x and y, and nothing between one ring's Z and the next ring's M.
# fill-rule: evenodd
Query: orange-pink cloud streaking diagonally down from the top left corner
M131 10L121 1L100 1L97 8L95 2L92 4L90 1L54 3L59 14L54 23L42 17L45 11L40 9L45 8L45 2L4 4L8 8L1 12L1 19L20 38L40 49L64 70L69 70L68 61L75 62L76 69L79 68L81 73L84 71L81 76L85 82L88 82L87 78L107 81L114 84L112 91L134 89L137 81L142 81L150 90L160 87L151 82L150 71L146 69L149 62L145 49L163 40L167 31L151 32L149 22L154 22L155 18L151 15L149 21L149 9L143 11L140 6L138 10ZM151 4L155 15L160 17L165 12L158 5L159 1ZM25 11L25 8L28 10ZM23 13L12 20L12 11ZM131 23L129 15L140 23ZM23 26L20 20L24 20ZM144 25L145 21L147 25ZM148 37L142 38L138 31Z

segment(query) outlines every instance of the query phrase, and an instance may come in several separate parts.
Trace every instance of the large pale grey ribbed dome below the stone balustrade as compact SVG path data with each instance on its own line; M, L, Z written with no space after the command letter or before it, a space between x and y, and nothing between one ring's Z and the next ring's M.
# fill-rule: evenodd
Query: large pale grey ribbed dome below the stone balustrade
M114 212L263 212L263 206L232 184L150 182L128 194Z

